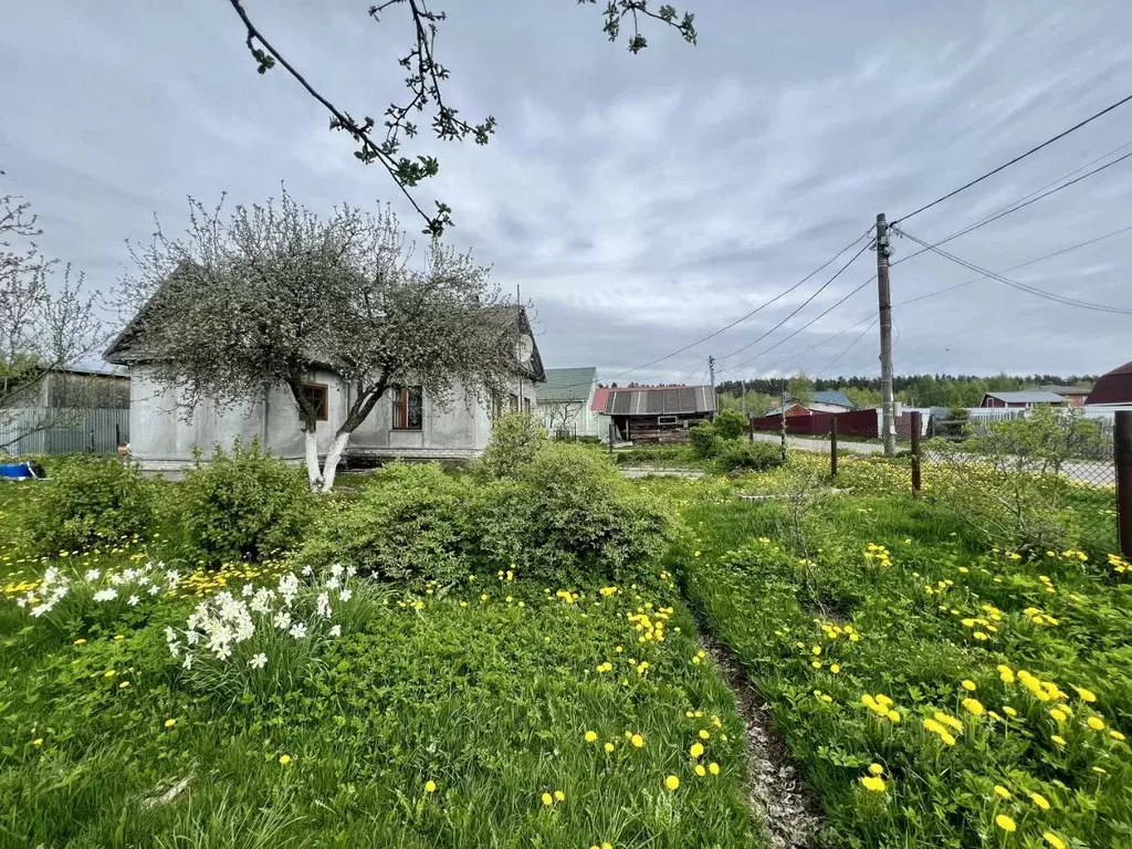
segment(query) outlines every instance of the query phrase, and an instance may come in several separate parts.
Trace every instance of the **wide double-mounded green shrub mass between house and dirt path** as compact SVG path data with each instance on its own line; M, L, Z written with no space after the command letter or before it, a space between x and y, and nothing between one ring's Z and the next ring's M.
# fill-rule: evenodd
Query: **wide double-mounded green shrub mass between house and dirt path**
M335 506L302 557L387 580L518 569L550 583L637 577L671 526L664 503L590 446L542 441L507 477L393 463Z

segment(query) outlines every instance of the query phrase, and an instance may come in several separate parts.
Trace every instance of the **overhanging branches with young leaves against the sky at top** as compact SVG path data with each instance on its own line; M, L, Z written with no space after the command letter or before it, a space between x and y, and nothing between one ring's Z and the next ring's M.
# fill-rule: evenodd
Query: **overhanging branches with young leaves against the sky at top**
M354 156L365 164L377 163L388 172L412 207L424 218L424 233L438 237L444 233L445 228L452 226L452 207L437 200L436 214L430 216L410 191L423 180L436 177L440 169L439 162L435 156L419 155L410 158L401 153L402 137L413 138L418 135L418 127L411 120L413 113L423 112L429 106L432 108L432 131L443 142L462 142L471 136L475 144L486 145L495 134L494 115L487 115L479 122L469 122L460 117L457 109L444 100L443 84L451 74L436 60L435 43L439 25L447 19L447 14L429 9L428 0L384 0L369 7L369 17L376 23L380 23L383 15L392 7L408 7L413 31L410 50L397 60L397 63L409 71L405 87L410 96L404 103L391 103L385 110L385 134L378 138L375 137L377 121L374 118L365 115L358 120L320 94L252 23L243 7L243 0L229 0L229 2L243 23L245 43L256 61L256 70L266 74L276 65L282 66L331 113L331 129L345 132L353 139L358 145ZM597 0L577 0L577 2L594 5ZM623 22L629 19L633 35L628 40L628 48L631 52L640 53L648 46L648 41L640 29L642 18L667 24L687 43L696 43L694 16L691 12L681 17L669 5L653 11L649 8L649 0L609 0L604 8L602 32L610 41L617 41Z

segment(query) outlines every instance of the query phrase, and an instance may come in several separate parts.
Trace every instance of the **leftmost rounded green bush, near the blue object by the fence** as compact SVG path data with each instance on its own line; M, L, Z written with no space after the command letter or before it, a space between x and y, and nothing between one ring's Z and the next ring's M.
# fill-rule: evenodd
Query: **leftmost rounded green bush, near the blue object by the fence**
M136 465L119 460L68 457L52 464L45 481L26 484L31 508L24 530L40 554L85 549L148 530L151 486Z

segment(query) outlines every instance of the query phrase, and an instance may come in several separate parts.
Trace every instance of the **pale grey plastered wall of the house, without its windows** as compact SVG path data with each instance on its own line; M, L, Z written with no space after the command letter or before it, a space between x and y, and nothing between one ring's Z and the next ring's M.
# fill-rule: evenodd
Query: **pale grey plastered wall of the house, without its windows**
M311 383L327 386L327 420L318 422L318 451L326 454L338 427L345 421L350 388L335 375L316 371ZM518 381L512 386L520 394ZM534 405L534 386L523 381L522 396ZM130 448L146 472L177 473L192 463L195 448L205 455L216 445L225 449L239 437L260 444L284 460L299 462L305 441L299 409L286 387L263 397L218 410L204 402L186 421L177 408L177 393L154 379L145 367L135 367L130 381ZM457 388L446 404L426 394L420 430L393 429L393 397L378 400L374 411L353 432L346 456L463 460L477 456L491 435L488 409Z

